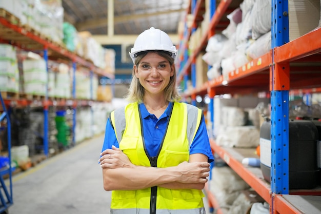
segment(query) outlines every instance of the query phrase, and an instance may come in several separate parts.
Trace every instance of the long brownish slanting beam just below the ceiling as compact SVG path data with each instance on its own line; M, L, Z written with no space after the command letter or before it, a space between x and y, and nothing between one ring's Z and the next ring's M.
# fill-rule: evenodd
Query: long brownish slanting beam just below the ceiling
M155 12L155 13L144 13L144 14L134 14L134 15L122 15L122 16L115 16L114 17L114 24L132 21L138 18L147 18L150 16L157 16L157 15L164 15L169 13L176 13L176 12L185 12L185 9L179 10L168 10L162 12ZM93 28L100 28L108 26L108 18L96 18L92 20L88 20L85 22L75 23L75 28L78 31L84 31Z

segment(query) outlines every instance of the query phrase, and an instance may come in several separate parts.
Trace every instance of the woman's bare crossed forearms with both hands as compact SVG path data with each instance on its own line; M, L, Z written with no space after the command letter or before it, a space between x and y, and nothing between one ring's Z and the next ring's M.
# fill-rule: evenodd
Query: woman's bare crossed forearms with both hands
M168 168L136 166L119 148L102 152L104 189L136 190L152 186L171 189L203 189L209 176L210 164L204 154L191 154L189 162Z

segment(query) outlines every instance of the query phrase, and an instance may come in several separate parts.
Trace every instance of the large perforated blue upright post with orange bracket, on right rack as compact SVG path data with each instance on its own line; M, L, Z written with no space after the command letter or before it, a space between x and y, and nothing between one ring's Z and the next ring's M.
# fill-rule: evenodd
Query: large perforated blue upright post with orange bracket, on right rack
M289 42L288 1L272 0L271 190L289 193L289 63L275 63L275 47ZM280 78L283 76L285 78ZM273 208L272 200L272 210Z

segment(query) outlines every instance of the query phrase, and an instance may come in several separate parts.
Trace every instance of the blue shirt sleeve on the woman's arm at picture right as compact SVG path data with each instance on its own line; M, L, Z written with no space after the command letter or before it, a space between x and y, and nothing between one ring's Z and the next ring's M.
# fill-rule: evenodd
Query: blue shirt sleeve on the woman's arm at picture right
M190 154L202 153L208 157L208 162L214 161L210 141L207 134L204 115L196 132L195 138L190 147Z

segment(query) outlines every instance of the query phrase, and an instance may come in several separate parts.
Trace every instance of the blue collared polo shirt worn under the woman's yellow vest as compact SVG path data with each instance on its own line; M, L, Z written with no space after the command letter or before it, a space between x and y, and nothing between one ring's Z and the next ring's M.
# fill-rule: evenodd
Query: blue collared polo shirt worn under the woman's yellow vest
M157 119L154 114L150 114L143 103L139 104L143 119L143 130L145 138L145 146L148 154L151 157L157 155L160 144L166 131L166 125L170 115L170 109L173 105L171 102L166 108L165 112ZM118 141L116 139L115 131L108 119L105 131L105 140L102 151L110 149L114 145L119 148ZM204 121L204 115L196 132L195 138L190 147L190 154L202 153L208 157L208 162L213 162L213 153L211 150L206 125Z

